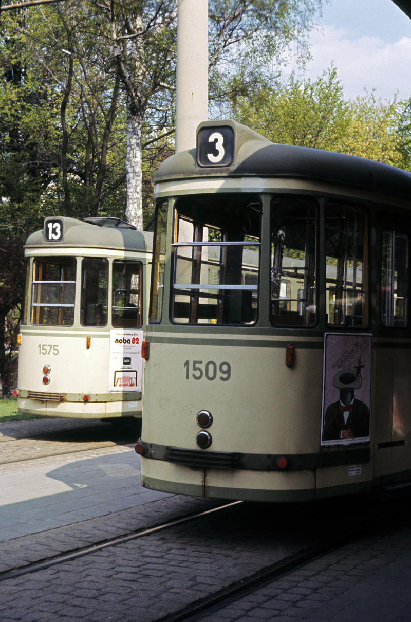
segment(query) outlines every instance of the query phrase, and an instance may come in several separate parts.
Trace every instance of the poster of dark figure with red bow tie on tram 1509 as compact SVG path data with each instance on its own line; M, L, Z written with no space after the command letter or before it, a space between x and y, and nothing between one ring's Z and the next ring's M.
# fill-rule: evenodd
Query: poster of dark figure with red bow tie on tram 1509
M325 335L321 445L369 442L371 335Z

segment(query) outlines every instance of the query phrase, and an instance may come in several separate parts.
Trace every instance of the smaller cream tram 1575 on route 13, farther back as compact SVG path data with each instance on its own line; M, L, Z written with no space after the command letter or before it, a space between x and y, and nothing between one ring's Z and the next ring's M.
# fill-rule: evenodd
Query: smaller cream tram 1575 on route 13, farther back
M19 412L138 427L152 233L58 216L24 248Z

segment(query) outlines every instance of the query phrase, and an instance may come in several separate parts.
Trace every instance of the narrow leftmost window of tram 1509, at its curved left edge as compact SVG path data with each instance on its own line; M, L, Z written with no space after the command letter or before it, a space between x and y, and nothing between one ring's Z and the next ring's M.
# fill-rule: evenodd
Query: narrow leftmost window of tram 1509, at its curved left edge
M149 319L152 323L161 322L163 314L165 240L167 238L167 202L155 208L155 231L153 266L151 272L151 297Z

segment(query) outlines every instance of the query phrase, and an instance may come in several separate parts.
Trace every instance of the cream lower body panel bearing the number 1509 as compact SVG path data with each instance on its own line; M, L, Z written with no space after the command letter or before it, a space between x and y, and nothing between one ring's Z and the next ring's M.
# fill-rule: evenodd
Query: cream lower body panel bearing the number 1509
M148 336L151 339L150 333ZM312 413L321 409L320 348L312 350L310 342L304 344L308 347L298 350L298 364L288 369L284 364L287 341L284 345L262 348L236 346L238 335L225 338L224 346L206 345L208 340L201 337L198 345L187 346L184 334L178 336L180 340L182 343L169 346L156 343L153 335L150 341L150 365L145 370L145 386L151 388L145 396L150 417L143 427L147 438L155 434L158 443L183 443L183 447L195 449L199 431L195 416L206 410L213 415L215 451L236 451L236 447L246 443L251 453L290 453L295 450L291 445L295 438L288 433L293 427L298 428L297 451L315 450L320 422ZM213 369L217 369L213 380L205 374L209 362L215 363ZM220 379L224 378L218 371L222 363L231 368L227 381ZM166 381L162 376L164 366L168 369ZM193 378L200 376L201 371L200 379ZM214 371L208 375L213 377ZM303 406L303 401L310 406ZM236 417L236 412L241 416Z

